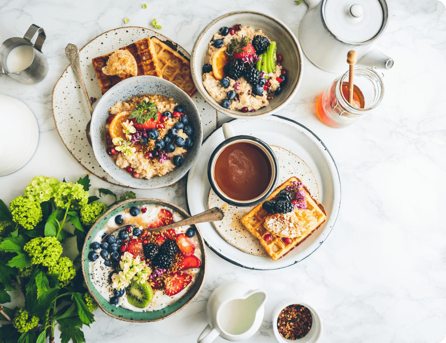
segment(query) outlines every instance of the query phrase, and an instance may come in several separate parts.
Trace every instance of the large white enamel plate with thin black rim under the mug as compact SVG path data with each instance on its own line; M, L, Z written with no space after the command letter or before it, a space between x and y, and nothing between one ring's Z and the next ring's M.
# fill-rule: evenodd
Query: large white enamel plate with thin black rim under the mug
M325 208L327 219L308 239L276 261L235 247L219 234L212 223L200 224L205 243L217 255L240 267L272 270L293 265L319 248L335 225L341 203L341 182L335 161L318 136L294 120L273 115L262 120L236 119L230 123L235 135L251 135L268 145L280 145L305 161L317 182L318 200ZM203 141L198 159L189 170L186 201L190 215L208 209L211 185L207 179L207 164L214 149L223 141L223 129L218 128ZM281 180L292 176L283 174L279 169L278 185L283 182Z

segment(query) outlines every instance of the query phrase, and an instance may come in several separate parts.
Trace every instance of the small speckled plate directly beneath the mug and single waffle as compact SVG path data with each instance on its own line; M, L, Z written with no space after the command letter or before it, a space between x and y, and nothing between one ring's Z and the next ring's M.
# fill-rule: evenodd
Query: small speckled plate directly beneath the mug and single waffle
M274 154L277 157L280 168L279 182L277 182L277 186L281 185L292 176L297 176L308 190L310 190L313 198L319 200L318 182L305 161L284 148L275 145L270 145L270 147L273 149ZM222 236L229 244L239 248L241 251L248 252L248 254L257 256L268 255L260 245L259 240L255 236L252 236L240 222L240 219L246 215L252 207L236 207L229 205L220 199L212 188L209 190L207 206L208 208L217 206L225 211L223 220L212 222L212 225L215 227L215 230L219 232L220 236Z

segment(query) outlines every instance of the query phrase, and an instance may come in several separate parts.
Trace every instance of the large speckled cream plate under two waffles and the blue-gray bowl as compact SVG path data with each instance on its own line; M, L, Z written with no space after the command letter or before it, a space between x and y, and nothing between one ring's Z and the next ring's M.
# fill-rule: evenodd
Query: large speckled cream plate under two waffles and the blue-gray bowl
M133 41L139 41L145 37L157 37L161 41L169 41L169 45L177 47L177 51L186 58L190 58L190 54L180 45L172 42L169 38L160 33L137 26L121 27L100 34L93 40L89 41L82 49L79 50L79 58L81 63L82 74L90 97L99 100L103 95L96 79L95 69L91 63L91 59L108 54L125 45L131 44ZM76 78L73 69L66 60L68 65L64 70L58 82L53 89L53 117L59 136L62 138L71 155L92 174L104 181L115 185L127 185L115 180L109 175L96 160L93 149L87 141L85 128L90 120L90 112L88 111L87 102L83 96L79 80ZM193 97L203 124L203 134L207 136L216 127L216 111L199 95L195 93ZM93 103L93 109L97 106L98 101Z

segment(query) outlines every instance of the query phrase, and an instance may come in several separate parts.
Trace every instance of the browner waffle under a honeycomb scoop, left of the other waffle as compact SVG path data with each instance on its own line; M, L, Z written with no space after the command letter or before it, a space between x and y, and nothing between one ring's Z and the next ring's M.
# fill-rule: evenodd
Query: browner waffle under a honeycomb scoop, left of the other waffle
M150 38L141 39L140 41L124 46L121 49L128 50L135 58L136 64L138 65L138 75L153 75L161 77L162 74L158 64L155 47L153 46L153 42L150 40ZM96 77L98 78L102 94L116 85L116 83L132 76L125 75L123 78L120 78L119 76L110 76L102 72L102 68L106 66L107 60L111 54L113 54L113 52L107 55L95 57L91 61L95 67Z

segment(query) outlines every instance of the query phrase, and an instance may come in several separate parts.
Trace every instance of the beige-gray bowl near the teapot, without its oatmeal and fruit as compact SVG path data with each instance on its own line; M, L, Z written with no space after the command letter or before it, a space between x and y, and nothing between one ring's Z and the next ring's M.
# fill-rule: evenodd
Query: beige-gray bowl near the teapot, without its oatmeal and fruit
M202 66L208 49L208 43L215 33L223 26L232 27L241 24L251 26L256 30L262 30L271 41L277 42L277 54L283 56L283 67L287 70L288 82L280 95L276 95L269 105L256 112L243 113L223 108L206 91L203 86ZM260 12L239 11L223 14L211 21L198 35L190 56L190 68L192 78L198 91L217 111L233 118L258 119L270 116L284 108L299 88L302 75L302 53L293 32L280 20Z

